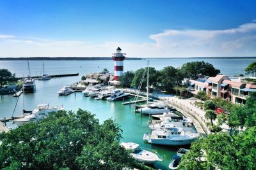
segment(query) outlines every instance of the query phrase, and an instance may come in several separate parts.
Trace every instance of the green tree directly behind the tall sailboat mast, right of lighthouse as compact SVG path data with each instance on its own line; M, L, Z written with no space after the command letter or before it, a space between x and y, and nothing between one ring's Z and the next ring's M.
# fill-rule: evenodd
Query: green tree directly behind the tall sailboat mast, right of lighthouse
M143 77L143 73L146 71L145 76L143 78L143 82L141 85L141 89L147 88L147 67L141 68L135 71L134 78L132 79L132 86L139 87L140 81ZM159 71L157 71L154 67L148 67L148 85L156 87L157 85L157 77L159 76Z

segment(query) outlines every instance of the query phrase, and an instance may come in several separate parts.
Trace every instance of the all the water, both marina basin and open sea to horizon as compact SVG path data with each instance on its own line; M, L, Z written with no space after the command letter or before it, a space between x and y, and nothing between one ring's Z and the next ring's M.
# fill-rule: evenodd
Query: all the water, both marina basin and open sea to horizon
M149 59L150 66L156 69L162 69L165 66L180 67L185 62L202 59ZM210 62L221 73L230 76L244 74L243 69L255 59L204 59ZM125 60L124 71L139 69L145 67L146 60ZM42 61L30 61L31 76L42 74ZM12 95L0 96L0 117L12 117L22 114L22 109L33 110L37 104L49 103L51 106L63 106L65 110L76 111L78 108L88 110L95 114L95 117L103 122L107 118L113 118L123 130L123 139L125 142L134 142L142 147L150 148L156 151L163 162L157 162L154 166L157 169L168 169L172 155L175 155L179 149L177 146L159 146L150 145L143 141L143 134L150 132L148 128L148 116L140 113L134 113L131 105L123 105L122 101L100 101L92 97L84 97L81 92L76 92L68 96L58 96L57 92L65 85L70 85L81 80L81 76L87 73L102 71L107 68L113 71L112 60L93 60L93 61L45 61L45 74L67 74L79 73L79 76L70 76L63 78L54 78L47 81L36 81L36 92L33 94L22 94L19 97ZM26 61L0 61L0 68L6 68L18 77L28 75L28 66ZM17 107L15 108L15 104Z

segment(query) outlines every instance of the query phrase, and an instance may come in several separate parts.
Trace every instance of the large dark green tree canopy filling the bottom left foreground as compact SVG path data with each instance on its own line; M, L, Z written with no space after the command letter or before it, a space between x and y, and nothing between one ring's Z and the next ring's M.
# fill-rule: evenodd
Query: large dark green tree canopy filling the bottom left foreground
M121 134L111 119L99 124L88 111L58 111L0 134L0 168L129 169L135 160L119 146Z

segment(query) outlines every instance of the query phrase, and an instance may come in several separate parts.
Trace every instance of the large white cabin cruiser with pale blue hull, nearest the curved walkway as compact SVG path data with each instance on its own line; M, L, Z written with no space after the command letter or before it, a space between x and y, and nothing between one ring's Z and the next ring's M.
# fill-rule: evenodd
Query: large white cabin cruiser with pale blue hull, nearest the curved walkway
M190 145L199 138L197 132L184 131L181 127L154 129L151 134L144 134L143 139L157 145Z

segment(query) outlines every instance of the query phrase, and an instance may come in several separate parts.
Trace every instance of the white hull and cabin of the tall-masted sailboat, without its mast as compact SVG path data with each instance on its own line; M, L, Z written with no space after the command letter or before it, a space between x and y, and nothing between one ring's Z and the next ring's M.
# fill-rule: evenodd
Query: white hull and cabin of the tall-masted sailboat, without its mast
M145 108L141 108L138 110L138 112L143 114L149 114L149 115L155 115L155 114L163 114L164 112L169 112L168 107L166 104L161 103L153 103L149 104Z

